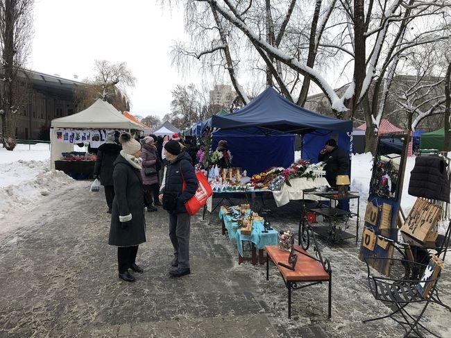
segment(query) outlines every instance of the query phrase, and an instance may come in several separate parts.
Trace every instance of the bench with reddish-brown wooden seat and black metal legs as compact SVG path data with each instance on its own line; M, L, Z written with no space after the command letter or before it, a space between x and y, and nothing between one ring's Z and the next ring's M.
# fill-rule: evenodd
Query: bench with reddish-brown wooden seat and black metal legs
M311 230L309 230L310 232ZM288 251L282 251L278 246L265 246L266 250L266 280L269 280L269 261L271 260L276 267L278 267L280 275L284 280L285 286L288 289L288 318L291 318L291 289L303 289L322 282L328 282L328 307L327 318L331 317L332 307L332 270L328 260L321 257L321 252L318 251L316 240L314 240L318 257L313 257L302 247L295 245L294 253L298 256L294 270L282 267L279 262L288 265ZM308 249L308 246L304 246ZM298 285L300 282L307 282L307 285Z

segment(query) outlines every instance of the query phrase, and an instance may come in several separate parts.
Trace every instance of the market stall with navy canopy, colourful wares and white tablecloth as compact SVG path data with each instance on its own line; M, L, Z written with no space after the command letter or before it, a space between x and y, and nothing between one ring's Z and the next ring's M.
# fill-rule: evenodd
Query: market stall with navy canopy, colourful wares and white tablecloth
M257 175L253 176L254 183L257 183L255 178L262 179L262 175L258 174L262 168L268 169L262 171L264 174L282 176L271 184L269 179L264 177L261 187L254 185L257 189L269 187L273 190L278 205L287 203L287 199L302 198L304 189L327 186L327 181L321 173L309 174L311 169L315 169L309 168L309 165L318 162L318 153L323 149L326 140L334 138L341 149L351 150L352 121L327 117L301 108L278 94L272 87L266 88L248 105L233 114L214 115L212 128L216 128L212 134L212 149L219 140L227 140L233 154L233 166L246 170L250 168L249 176ZM237 135L232 135L232 131L235 131ZM302 163L293 163L294 134L303 137L302 158L304 161ZM241 138L241 142L235 142L233 137ZM248 151L260 140L263 142L269 139L272 142L260 146L260 151L255 149ZM281 147L275 146L277 142L284 139L289 143ZM248 140L248 142L242 140ZM273 149L276 151L271 152ZM237 165L235 159L239 157L239 153L245 155L241 156ZM279 172L269 172L271 167L279 167ZM322 169L316 168L316 170ZM289 177L291 175L292 177ZM287 185L287 179L290 180L290 178L298 179L291 180L293 184ZM271 185L278 185L278 187L271 187Z

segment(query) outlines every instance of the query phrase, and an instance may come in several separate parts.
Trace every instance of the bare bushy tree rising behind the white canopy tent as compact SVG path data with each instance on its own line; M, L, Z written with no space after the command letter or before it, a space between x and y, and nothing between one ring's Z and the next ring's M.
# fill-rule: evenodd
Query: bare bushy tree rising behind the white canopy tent
M77 87L75 99L78 110L83 110L96 99L114 105L118 110L130 110L127 88L135 87L136 78L128 69L126 62L111 63L107 60L94 62L94 78L85 79L85 87Z

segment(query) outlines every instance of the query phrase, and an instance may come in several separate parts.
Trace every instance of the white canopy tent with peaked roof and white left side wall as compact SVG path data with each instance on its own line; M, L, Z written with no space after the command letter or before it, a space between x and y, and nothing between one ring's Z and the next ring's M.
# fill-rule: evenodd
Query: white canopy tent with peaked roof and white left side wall
M50 141L51 141L51 169L55 169L55 161L60 158L61 153L74 150L74 145L70 143L56 141L56 129L119 129L119 130L143 130L139 124L124 117L119 110L110 103L97 99L90 107L77 112L74 115L60 117L51 121Z

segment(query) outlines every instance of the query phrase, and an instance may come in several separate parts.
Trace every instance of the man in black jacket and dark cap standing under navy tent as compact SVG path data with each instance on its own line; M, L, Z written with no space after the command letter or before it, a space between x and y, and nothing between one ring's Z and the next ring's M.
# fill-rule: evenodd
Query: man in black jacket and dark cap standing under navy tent
M337 175L348 174L349 155L339 149L337 141L334 139L325 142L325 148L318 154L318 161L325 162L325 179L330 187L337 189ZM337 204L337 208L341 209L341 201Z

